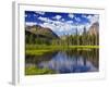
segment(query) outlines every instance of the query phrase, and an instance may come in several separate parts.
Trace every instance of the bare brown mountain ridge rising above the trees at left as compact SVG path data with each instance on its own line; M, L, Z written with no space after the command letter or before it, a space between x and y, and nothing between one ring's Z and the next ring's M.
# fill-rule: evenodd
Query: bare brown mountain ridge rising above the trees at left
M25 27L25 33L32 33L36 36L43 36L44 38L49 38L49 39L58 39L59 36L53 33L50 28L48 27L41 27L39 25L34 25L34 26L26 26ZM39 38L38 37L38 38Z

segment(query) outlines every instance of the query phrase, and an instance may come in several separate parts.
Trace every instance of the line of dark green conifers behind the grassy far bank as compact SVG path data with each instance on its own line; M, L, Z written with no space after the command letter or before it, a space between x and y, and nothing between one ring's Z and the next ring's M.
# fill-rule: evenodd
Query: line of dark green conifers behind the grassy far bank
M25 35L26 44L35 44L35 45L60 45L60 46L98 46L99 45L99 34L88 34L86 28L83 28L83 33L80 34L77 29L75 29L74 35L63 35L63 38L58 39L48 39L41 38L37 35L31 34Z

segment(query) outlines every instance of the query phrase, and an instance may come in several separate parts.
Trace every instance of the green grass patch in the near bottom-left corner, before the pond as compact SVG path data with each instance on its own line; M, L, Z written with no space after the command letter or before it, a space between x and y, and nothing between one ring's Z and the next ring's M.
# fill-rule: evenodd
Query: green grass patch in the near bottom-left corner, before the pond
M43 74L53 74L55 72L49 69L38 69L37 66L25 67L25 75L43 75Z

